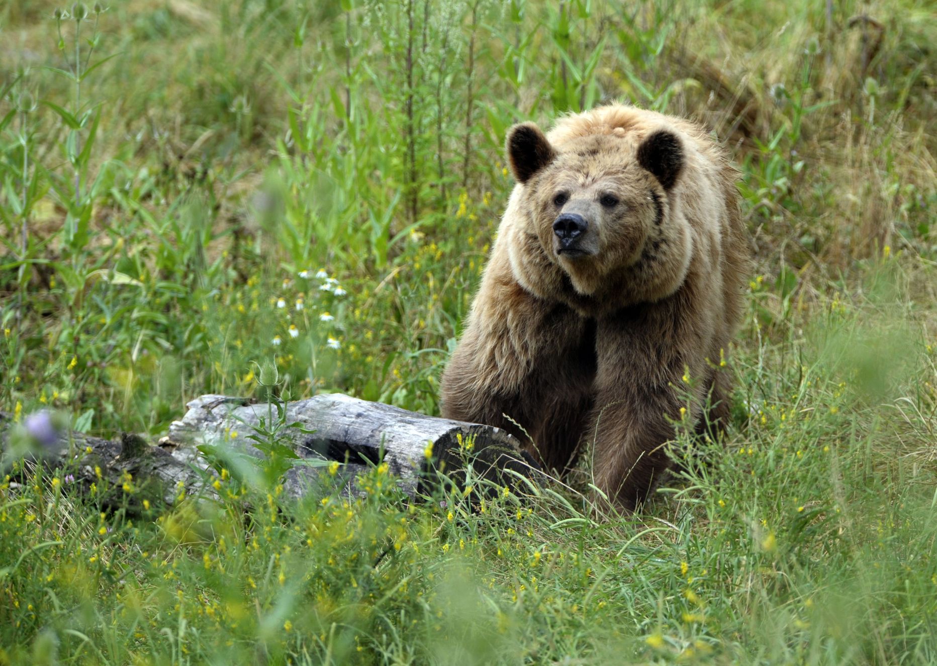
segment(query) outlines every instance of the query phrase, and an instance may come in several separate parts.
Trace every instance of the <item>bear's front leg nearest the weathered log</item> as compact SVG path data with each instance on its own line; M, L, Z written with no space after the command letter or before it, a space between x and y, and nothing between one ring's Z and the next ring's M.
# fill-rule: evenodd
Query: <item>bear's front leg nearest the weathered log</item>
M442 416L502 428L562 472L590 405L594 332L567 306L516 285L497 296L477 304L446 367Z

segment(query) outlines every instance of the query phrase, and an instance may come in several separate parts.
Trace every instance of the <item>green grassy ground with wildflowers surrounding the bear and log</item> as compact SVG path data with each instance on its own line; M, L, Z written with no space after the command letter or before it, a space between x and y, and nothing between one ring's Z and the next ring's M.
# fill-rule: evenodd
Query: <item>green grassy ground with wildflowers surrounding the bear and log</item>
M929 2L55 8L0 8L17 421L156 437L204 392L436 413L505 130L604 99L731 146L757 273L725 441L633 519L576 492L587 464L471 511L383 467L352 503L224 472L141 508L4 461L0 664L937 662Z

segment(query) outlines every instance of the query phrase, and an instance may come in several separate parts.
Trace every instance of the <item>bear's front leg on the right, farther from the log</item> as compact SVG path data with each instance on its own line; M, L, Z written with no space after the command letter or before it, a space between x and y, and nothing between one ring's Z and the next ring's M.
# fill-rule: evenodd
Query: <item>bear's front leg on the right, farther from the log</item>
M597 333L595 405L585 437L587 444L594 442L596 486L627 511L666 474L663 447L674 438L673 421L687 404L689 385L682 377L687 368L695 375L704 365L688 349L695 336L661 305L603 318ZM692 419L698 402L692 400Z

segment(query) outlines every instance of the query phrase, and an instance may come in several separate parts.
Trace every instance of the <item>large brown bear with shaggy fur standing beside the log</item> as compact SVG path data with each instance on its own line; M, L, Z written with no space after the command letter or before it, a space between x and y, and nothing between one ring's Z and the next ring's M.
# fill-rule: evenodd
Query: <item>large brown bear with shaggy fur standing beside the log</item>
M702 127L622 104L545 136L513 126L507 155L517 184L442 414L504 428L560 473L594 444L595 484L632 510L676 422L727 414L749 256L736 170Z

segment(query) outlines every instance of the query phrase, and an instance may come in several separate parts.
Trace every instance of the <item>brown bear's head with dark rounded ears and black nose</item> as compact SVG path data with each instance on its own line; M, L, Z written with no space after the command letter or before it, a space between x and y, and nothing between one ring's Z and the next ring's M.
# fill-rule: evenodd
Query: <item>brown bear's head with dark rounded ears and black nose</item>
M692 250L677 215L684 141L666 127L615 127L554 144L533 123L513 126L508 161L518 185L516 224L527 239L518 265L549 275L522 283L572 287L565 300L623 306L656 301L684 280ZM541 296L552 296L553 293ZM560 296L562 299L562 296Z

